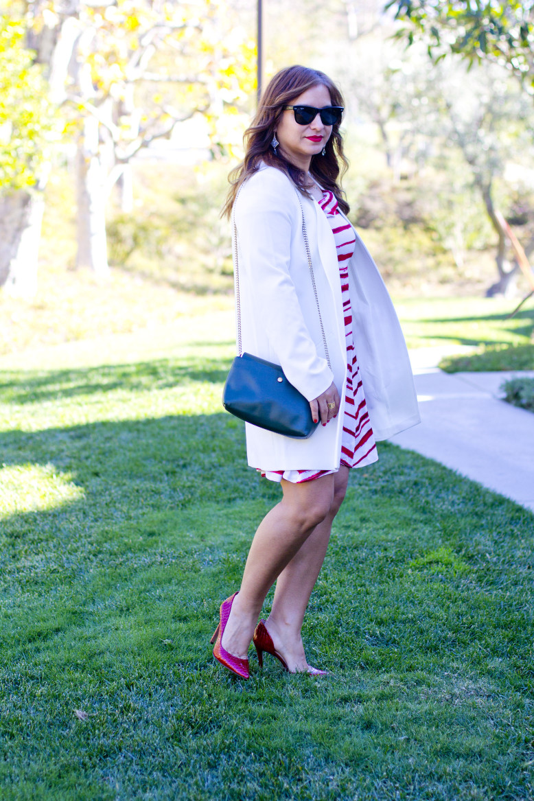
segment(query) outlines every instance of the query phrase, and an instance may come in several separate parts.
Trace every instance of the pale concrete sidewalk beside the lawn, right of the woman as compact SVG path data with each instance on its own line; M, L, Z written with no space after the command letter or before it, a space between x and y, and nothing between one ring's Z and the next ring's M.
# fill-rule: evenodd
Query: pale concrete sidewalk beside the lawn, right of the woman
M534 511L534 414L500 400L500 385L532 372L456 372L412 351L421 424L392 438L402 448L478 481Z

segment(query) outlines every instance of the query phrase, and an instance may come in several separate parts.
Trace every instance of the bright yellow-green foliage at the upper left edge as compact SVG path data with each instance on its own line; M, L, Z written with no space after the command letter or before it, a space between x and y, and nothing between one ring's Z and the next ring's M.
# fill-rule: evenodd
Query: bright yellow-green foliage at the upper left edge
M33 187L53 138L46 81L22 22L0 16L0 192Z

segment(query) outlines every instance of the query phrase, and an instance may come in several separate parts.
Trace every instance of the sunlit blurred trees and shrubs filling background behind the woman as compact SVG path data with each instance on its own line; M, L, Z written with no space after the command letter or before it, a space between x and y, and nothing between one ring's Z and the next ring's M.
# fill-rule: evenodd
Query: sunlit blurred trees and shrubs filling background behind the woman
M219 210L255 110L257 4L17 0L0 11L10 343L22 319L62 340L44 309L78 291L82 306L91 280L125 330L125 282L171 291L155 302L163 316L172 292L231 293ZM265 80L301 62L343 90L351 219L397 295L531 288L510 239L528 261L531 16L512 2L263 2Z

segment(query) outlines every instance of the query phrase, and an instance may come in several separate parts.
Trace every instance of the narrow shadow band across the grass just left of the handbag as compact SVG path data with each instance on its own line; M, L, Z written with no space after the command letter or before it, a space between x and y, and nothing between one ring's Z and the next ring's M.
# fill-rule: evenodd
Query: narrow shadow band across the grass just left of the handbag
M205 347L204 343L204 347ZM42 400L90 395L98 392L150 392L155 389L187 386L195 383L222 384L230 369L231 358L183 356L132 364L104 364L89 368L66 368L43 372L2 371L0 400L26 404Z

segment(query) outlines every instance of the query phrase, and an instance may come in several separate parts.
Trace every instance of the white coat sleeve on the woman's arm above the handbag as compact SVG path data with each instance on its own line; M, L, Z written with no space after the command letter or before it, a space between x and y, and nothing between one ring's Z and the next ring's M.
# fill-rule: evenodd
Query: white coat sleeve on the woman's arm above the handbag
M255 319L287 379L313 400L334 376L317 352L291 280L291 235L301 231L302 223L290 192L295 190L287 177L269 168L252 175L239 192L234 209L239 271L250 278Z

